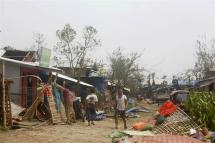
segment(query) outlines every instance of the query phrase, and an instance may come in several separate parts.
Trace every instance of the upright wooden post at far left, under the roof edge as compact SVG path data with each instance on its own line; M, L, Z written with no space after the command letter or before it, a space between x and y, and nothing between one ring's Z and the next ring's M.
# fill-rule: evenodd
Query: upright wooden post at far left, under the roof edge
M6 128L6 111L5 111L5 62L2 62L2 108L3 108L3 127Z

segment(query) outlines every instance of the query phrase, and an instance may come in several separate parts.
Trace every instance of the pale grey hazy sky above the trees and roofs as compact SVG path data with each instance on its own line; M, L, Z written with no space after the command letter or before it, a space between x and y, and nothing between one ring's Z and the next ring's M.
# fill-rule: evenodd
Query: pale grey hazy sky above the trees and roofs
M120 46L143 53L150 71L172 75L193 66L197 39L215 38L215 0L0 0L1 47L29 48L40 32L52 48L67 23L79 34L85 25L98 30L98 59Z

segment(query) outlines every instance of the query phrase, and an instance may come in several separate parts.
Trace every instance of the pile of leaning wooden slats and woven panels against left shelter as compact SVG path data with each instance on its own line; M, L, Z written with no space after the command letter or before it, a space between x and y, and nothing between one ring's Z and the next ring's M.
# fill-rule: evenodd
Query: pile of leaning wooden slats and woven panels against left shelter
M63 103L65 99L61 95L58 97L53 89L50 85L44 85L33 104L27 109L17 108L13 105L17 109L13 110L16 116L13 116L14 126L12 128L28 128L45 123L65 124L67 121ZM29 121L34 121L36 125L32 125L33 122L30 124Z

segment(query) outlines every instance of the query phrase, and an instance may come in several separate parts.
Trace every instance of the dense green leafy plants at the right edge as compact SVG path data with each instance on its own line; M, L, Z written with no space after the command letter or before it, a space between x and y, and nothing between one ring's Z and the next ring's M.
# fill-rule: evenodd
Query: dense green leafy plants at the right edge
M191 92L184 107L198 123L215 130L215 93Z

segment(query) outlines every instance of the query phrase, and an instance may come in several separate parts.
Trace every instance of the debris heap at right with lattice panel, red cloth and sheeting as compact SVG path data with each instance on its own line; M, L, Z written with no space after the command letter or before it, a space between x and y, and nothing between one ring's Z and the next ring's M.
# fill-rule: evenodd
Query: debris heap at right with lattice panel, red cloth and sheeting
M212 141L214 136L171 101L166 101L152 119L134 123L132 130L110 135L114 143L201 143L208 139Z

